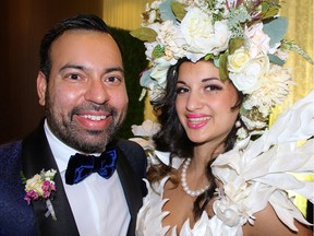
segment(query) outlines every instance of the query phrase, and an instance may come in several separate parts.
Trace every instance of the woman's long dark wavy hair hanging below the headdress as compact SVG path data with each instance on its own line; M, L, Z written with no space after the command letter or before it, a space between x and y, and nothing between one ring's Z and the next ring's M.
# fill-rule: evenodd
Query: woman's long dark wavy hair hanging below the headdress
M178 70L180 66L185 61L190 60L186 58L182 58L177 62L177 64L169 68L167 73L167 85L165 92L157 99L152 102L155 111L158 114L158 121L161 125L160 130L154 135L156 150L162 152L170 152L170 164L172 163L173 156L179 156L182 158L193 156L194 144L191 140L189 140L176 111L176 84L178 81ZM243 94L238 90L237 92L238 101L234 106L231 107L231 109L239 108L244 99ZM238 120L243 127L244 123L241 121L240 117L238 117ZM232 130L224 141L225 152L233 148L237 140L235 134L239 128L240 127L234 125ZM212 173L210 167L214 161L215 158L212 158L212 161L206 166L206 175L210 187L203 194L198 196L194 202L193 211L195 220L200 219L202 212L206 210L206 206L209 200L213 198L215 189L217 188L215 177ZM179 184L179 179L173 178L173 176L176 176L173 175L173 169L164 164L160 164L159 168L153 166L150 169L148 169L147 173L147 177L150 181L158 181L166 175L170 175L170 180L174 185Z

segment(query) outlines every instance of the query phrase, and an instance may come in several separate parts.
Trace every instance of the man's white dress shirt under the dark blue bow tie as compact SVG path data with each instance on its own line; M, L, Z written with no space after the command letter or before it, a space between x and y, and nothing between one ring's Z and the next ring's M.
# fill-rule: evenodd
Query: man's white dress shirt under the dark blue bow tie
M55 137L47 120L45 120L44 128L80 235L125 236L131 215L117 170L109 179L94 173L77 184L67 185L64 175L68 162L70 156L77 151ZM94 155L99 156L100 153L94 153Z

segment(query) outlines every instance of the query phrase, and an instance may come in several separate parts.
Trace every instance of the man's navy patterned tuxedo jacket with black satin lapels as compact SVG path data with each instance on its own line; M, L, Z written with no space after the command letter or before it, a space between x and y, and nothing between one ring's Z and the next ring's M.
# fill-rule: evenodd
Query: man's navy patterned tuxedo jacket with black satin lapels
M145 185L142 181L146 172L146 156L143 149L131 141L117 140L110 145L118 151L117 172L131 214L128 235L134 235L136 214L146 194ZM26 178L31 178L39 174L43 168L45 170L58 169L44 132L44 122L23 141L0 146L1 236L78 235L59 172L55 177L57 191L52 200L57 221L53 221L51 216L45 216L47 211L45 201L33 201L32 205L27 205L23 199L25 186L21 181L21 172Z

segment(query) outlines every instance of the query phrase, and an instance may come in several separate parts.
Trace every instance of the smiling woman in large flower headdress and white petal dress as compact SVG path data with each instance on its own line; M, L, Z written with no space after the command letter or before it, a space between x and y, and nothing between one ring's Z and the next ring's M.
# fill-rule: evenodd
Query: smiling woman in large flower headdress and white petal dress
M286 172L313 172L313 140L297 149L298 139L314 134L304 129L311 119L301 119L303 129L277 125L264 132L270 107L285 99L291 83L287 69L269 57L279 60L283 51L271 48L263 31L264 20L277 21L271 12L279 5L212 3L155 1L143 14L144 27L132 33L147 40L153 67L142 85L153 90L160 122L136 234L310 235L286 190L313 198L311 187L300 187ZM295 126L313 96L279 123ZM301 153L302 161L282 166L283 157Z

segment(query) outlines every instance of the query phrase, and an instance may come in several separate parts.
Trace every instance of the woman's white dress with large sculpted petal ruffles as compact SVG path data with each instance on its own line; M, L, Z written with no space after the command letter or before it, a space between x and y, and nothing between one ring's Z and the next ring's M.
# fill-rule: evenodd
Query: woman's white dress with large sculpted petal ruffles
M300 142L302 141L302 142ZM169 154L155 151L165 164ZM182 163L173 162L178 168ZM255 141L243 140L235 148L219 155L213 163L214 175L224 184L217 190L214 202L215 216L206 212L190 228L189 219L180 236L240 236L242 225L254 224L254 213L269 203L279 219L295 231L293 219L306 224L302 213L292 203L287 191L301 194L313 202L314 182L298 180L295 174L312 174L314 170L314 91L278 117L276 123ZM177 228L162 227L162 219L169 212L161 209L164 186L168 177L156 184L154 190L146 181L148 194L137 215L137 236L162 236L168 231L178 235ZM172 212L172 214L176 214Z

